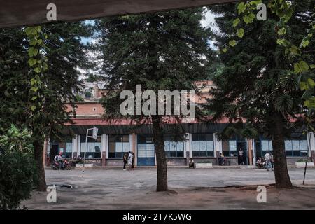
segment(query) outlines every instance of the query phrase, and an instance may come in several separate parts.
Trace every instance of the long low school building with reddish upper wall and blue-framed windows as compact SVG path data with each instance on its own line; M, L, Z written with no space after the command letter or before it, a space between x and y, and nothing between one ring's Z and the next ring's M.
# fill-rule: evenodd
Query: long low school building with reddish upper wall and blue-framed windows
M155 148L153 144L152 125L137 125L131 119L104 120L104 109L99 103L104 90L103 83L87 83L90 86L81 92L82 102L76 102L76 109L68 106L76 116L73 116L73 124L69 127L69 138L63 142L45 141L44 160L45 165L50 165L54 156L63 151L66 158L76 158L86 151L86 163L95 166L123 166L123 153L132 151L135 155L135 165L155 166ZM202 86L202 95L196 99L197 104L207 102L209 88L213 86L211 80L198 83ZM259 137L258 139L241 139L235 137L226 141L217 138L228 125L228 118L222 118L218 123L200 123L191 119L183 119L181 125L185 130L185 141L174 141L172 137L172 119L167 120L165 134L165 153L167 165L185 166L189 158L195 162L212 162L218 165L220 153L225 155L228 165L238 164L238 151L243 149L246 165L255 165L256 158L272 151L272 141ZM86 130L91 127L98 128L97 139L89 138L85 144ZM74 137L70 137L74 134ZM310 139L309 139L310 138ZM308 146L309 144L309 147ZM309 150L308 150L309 148ZM285 141L286 157L288 165L294 165L297 160L306 158L314 161L315 145L314 134L303 135L294 133Z

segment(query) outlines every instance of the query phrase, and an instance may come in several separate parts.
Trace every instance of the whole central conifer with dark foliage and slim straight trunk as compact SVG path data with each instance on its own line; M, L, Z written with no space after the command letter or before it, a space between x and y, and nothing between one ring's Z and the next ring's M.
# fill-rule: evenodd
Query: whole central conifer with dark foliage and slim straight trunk
M174 10L97 22L102 52L102 74L109 94L104 99L107 117L121 116L120 92L142 90L196 90L196 80L207 79L207 59L213 56L207 40L209 29L201 26L203 8ZM158 105L158 104L157 104ZM174 105L173 109L174 109ZM158 111L155 111L158 114ZM176 116L181 118L181 116ZM167 162L163 136L165 120L160 115L132 116L139 125L150 120L158 165L157 190L167 190ZM180 132L180 128L177 132Z

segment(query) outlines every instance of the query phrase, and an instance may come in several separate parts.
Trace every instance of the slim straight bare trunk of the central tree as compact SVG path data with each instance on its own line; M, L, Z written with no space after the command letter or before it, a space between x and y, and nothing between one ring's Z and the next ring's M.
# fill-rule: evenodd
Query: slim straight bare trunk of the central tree
M152 116L153 141L155 146L158 169L157 191L167 191L167 160L165 157L164 139L161 127L161 117Z

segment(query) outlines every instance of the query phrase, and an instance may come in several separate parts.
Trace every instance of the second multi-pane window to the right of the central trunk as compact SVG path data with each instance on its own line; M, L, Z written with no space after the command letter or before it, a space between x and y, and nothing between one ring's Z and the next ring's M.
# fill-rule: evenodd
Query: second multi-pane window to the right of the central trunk
M193 156L214 156L214 134L193 134Z

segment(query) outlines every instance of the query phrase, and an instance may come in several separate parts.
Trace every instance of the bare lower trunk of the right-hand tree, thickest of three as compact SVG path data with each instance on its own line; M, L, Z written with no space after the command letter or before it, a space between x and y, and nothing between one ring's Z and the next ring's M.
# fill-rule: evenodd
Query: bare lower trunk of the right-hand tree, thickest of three
M272 138L272 148L274 155L274 178L276 188L293 188L288 174L286 164L286 151L284 147L283 118L281 115L275 115L274 136Z

